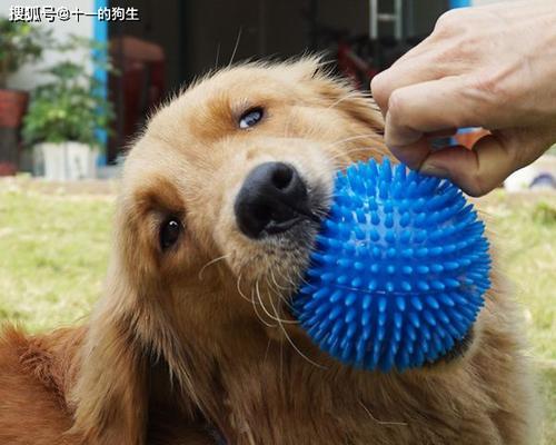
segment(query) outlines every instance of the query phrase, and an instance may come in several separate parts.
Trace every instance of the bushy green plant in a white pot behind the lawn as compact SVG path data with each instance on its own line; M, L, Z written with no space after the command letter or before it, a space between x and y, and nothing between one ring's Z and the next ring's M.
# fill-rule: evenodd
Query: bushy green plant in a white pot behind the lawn
M58 47L60 52L80 49L95 49L95 43L73 37ZM43 166L46 179L96 176L99 132L109 130L113 111L101 82L91 73L96 67L110 66L102 51L93 53L92 67L62 60L46 69L51 80L32 91L22 135L33 146L36 165Z

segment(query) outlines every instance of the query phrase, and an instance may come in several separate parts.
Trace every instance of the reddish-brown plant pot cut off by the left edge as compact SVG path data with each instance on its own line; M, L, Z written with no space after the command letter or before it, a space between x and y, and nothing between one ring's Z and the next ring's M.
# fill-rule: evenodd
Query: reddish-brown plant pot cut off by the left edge
M18 169L19 127L28 102L27 91L0 89L0 176Z

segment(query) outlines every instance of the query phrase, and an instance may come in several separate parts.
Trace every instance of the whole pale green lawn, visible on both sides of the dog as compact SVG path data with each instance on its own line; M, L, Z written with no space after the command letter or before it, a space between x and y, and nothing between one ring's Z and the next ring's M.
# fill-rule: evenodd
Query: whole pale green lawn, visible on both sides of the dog
M0 181L0 322L30 330L79 322L98 298L113 195ZM525 314L545 403L544 445L556 444L556 194L481 199Z

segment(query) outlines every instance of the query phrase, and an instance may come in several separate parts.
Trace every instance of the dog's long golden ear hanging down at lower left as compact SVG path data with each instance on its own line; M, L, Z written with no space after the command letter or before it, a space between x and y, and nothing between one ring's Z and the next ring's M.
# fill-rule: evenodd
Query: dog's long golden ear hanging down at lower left
M118 273L111 275L82 348L72 433L88 444L140 445L148 411L148 354L136 334L141 312Z

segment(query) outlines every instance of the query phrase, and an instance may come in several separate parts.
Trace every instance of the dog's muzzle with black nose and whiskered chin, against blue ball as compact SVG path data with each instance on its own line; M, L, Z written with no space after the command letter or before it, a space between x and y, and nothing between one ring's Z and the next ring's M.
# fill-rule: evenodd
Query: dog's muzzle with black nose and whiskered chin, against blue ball
M259 301L259 313L291 315L288 308L331 205L329 179L302 175L291 164L265 162L248 174L236 196L236 226L242 237L230 261L241 291Z

